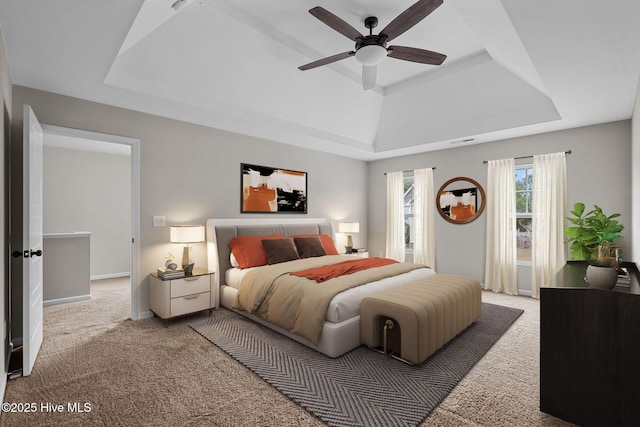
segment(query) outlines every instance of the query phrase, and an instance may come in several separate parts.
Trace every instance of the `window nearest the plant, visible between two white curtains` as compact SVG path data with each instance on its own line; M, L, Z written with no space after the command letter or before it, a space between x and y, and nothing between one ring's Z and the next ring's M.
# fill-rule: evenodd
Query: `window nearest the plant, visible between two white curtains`
M531 201L533 197L533 166L516 166L516 227L518 261L531 262Z

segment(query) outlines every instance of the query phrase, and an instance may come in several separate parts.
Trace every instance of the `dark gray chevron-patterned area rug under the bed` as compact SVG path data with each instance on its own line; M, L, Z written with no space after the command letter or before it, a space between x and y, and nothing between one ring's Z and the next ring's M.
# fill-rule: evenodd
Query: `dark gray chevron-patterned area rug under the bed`
M482 316L424 363L360 346L336 359L223 309L192 329L329 426L416 426L522 314L482 304Z

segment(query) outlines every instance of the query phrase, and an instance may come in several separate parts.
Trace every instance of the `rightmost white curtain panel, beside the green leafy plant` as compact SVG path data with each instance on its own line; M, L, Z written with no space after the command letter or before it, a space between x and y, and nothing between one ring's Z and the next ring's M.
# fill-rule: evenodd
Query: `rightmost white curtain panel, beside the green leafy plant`
M565 153L533 156L533 233L531 296L549 282L566 261L564 223L567 212Z

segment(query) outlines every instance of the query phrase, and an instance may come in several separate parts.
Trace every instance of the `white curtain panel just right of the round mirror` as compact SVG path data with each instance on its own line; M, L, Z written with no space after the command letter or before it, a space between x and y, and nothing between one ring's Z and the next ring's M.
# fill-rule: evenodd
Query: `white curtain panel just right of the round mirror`
M515 161L503 159L488 163L484 287L517 295Z

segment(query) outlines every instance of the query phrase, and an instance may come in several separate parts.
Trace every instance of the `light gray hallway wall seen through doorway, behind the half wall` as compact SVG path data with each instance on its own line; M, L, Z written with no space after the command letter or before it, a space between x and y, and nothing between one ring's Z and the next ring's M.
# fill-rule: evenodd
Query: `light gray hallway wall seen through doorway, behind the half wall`
M90 231L91 277L129 274L131 158L44 147L44 232Z

